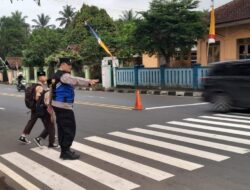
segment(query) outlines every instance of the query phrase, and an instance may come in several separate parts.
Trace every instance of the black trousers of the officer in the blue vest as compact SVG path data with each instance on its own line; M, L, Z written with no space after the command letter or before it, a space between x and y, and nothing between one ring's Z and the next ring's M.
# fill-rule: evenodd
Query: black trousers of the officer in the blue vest
M56 114L58 142L61 152L70 150L76 134L76 121L73 110L53 107Z

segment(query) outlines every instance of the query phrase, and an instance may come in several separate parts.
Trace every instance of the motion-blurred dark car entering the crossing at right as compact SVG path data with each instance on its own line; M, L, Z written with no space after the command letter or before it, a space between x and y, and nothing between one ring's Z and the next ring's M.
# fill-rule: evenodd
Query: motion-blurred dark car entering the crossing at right
M217 112L250 108L250 59L214 63L203 79L203 99Z

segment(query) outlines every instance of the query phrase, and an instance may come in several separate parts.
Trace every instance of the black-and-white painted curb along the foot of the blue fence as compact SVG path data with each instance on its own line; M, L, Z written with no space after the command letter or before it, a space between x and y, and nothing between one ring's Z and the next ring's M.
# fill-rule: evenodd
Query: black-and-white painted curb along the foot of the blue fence
M84 91L102 91L102 92L114 92L114 93L135 93L135 89L94 89L94 88L76 88L77 90ZM189 97L202 97L200 91L181 91L181 90L140 90L141 94L146 95L160 95L160 96L189 96Z

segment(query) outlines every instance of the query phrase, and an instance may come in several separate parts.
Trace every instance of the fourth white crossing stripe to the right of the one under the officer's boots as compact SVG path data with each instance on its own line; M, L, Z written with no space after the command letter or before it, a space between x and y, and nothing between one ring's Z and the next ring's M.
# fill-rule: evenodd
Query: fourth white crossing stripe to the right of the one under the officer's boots
M163 127L163 125L149 125L150 127ZM146 130L146 129L140 129L140 128L133 128L129 129L130 131L135 131L143 134L149 134L157 137L162 137L162 138L167 138L167 139L172 139L176 141L182 141L182 142L187 142L190 144L196 144L200 146L205 146L209 148L214 148L218 150L224 150L228 152L234 152L238 154L245 154L248 153L249 150L245 148L240 148L236 146L230 146L226 144L221 144L221 143L215 143L215 142L210 142L210 141L205 141L205 140L200 140L200 139L195 139L195 138L190 138L190 137L184 137L184 136L179 136L179 135L173 135L173 134L168 134L168 133L162 133L162 132L157 132L157 131L152 131L152 130Z

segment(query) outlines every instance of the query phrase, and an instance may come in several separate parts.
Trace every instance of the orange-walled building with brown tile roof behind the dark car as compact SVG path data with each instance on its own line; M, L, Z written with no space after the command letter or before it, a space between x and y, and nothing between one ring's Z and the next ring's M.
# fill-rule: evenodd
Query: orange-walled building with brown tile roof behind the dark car
M250 58L250 0L232 0L215 9L216 43L198 41L197 62ZM208 50L209 48L209 50Z

